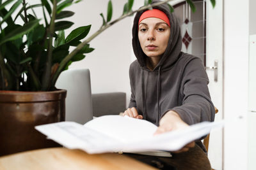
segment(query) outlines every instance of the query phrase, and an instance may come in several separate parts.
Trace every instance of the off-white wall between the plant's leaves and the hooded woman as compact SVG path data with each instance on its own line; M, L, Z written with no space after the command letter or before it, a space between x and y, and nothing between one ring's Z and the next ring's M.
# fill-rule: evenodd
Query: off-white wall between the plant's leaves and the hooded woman
M113 0L113 17L120 17L126 0ZM88 36L102 25L100 13L106 17L108 1L81 1L69 7L76 14L70 18L72 29L92 24ZM68 30L70 31L70 29ZM88 37L87 36L87 37ZM129 65L131 63L131 17L125 18L99 34L90 43L95 48L84 60L74 62L70 69L88 68L91 73L92 93L126 92L130 96Z

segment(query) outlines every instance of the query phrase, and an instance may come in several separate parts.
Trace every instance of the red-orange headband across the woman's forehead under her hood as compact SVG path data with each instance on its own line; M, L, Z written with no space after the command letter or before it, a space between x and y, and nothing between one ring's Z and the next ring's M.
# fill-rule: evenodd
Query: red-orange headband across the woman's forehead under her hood
M164 22L166 22L166 24L169 25L169 27L170 27L170 20L167 17L167 15L163 11L157 10L157 9L147 10L147 11L143 12L140 16L138 24L140 24L141 20L144 20L145 18L150 18L150 17L159 18L161 20L164 20Z

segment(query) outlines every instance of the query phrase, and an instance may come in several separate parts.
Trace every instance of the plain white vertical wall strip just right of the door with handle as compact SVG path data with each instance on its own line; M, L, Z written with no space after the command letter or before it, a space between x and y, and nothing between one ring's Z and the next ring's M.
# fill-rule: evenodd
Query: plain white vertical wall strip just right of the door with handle
M224 169L247 169L249 0L224 1Z

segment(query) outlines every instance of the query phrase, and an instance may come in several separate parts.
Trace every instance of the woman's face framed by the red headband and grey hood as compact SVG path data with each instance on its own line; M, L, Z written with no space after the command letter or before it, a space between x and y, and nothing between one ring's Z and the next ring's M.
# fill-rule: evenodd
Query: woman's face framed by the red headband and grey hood
M170 37L170 27L159 18L145 18L140 22L138 37L143 52L148 57L163 55Z

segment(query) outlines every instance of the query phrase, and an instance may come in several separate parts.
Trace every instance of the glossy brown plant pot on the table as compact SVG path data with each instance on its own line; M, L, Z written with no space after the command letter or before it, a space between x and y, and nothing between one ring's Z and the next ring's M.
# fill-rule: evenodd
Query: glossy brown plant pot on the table
M0 156L60 146L35 130L65 120L66 90L0 91Z

